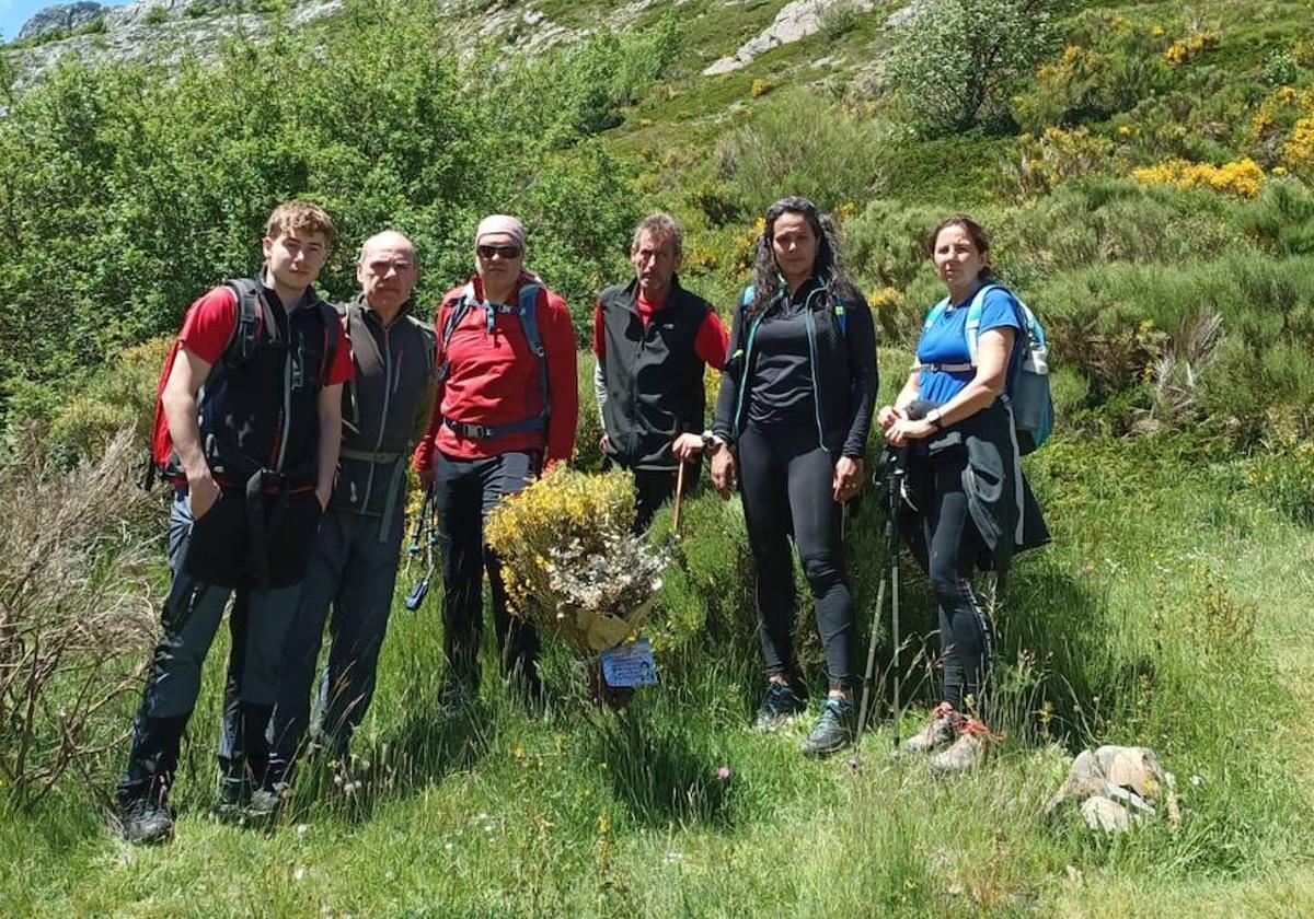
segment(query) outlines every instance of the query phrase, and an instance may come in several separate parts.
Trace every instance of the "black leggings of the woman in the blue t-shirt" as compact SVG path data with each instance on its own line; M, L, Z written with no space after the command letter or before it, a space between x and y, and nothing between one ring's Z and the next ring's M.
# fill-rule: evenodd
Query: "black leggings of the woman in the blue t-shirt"
M943 698L957 712L984 718L991 631L972 593L971 576L987 549L963 492L966 467L967 450L962 448L934 458L912 457L908 479L920 515L904 511L900 519L940 604Z

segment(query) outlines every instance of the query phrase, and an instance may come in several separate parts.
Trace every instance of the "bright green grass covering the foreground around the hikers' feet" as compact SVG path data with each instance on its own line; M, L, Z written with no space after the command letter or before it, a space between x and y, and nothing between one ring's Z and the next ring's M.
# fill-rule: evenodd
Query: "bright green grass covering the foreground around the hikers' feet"
M394 613L356 743L371 761L357 767L360 793L311 769L271 832L206 817L221 635L175 796L176 840L125 845L88 789L7 814L0 912L1076 915L1125 903L1141 915L1204 905L1221 915L1221 905L1307 903L1289 872L1305 870L1314 845L1310 800L1294 781L1314 755L1294 716L1314 695L1301 664L1314 533L1242 484L1248 463L1172 438L1059 442L1037 456L1058 541L1016 571L999 622L1008 738L966 780L891 761L886 713L857 776L838 759L803 760L803 725L749 731L759 676L742 620L728 633L737 638L692 649L623 717L587 708L577 666L557 650L547 670L565 698L549 713L507 702L486 660L482 717L447 721L435 701L435 592L420 612ZM711 496L690 505L699 524L689 551L720 507ZM859 557L859 582L879 563ZM916 642L930 609L908 580L904 629ZM1252 610L1254 633L1202 620L1210 592ZM922 704L933 688L916 667L905 693ZM1042 700L1059 717L1042 721ZM1071 814L1039 818L1063 743L1096 739L1159 750L1181 788L1181 831L1104 840ZM108 765L99 781L112 781Z

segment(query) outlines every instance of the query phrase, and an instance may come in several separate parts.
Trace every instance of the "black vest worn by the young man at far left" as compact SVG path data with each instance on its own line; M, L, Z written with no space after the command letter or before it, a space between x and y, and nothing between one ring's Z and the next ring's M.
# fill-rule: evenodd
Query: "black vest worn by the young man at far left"
M284 487L314 486L322 381L336 341L338 315L307 290L290 314L261 285L261 324L244 360L225 349L200 393L205 458L227 486L269 470ZM240 309L240 307L239 307Z

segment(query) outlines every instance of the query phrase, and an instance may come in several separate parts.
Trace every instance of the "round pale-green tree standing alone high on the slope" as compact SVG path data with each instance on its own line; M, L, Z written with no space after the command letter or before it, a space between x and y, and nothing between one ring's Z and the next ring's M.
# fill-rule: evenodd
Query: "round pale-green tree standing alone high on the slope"
M1008 91L1050 49L1058 0L929 0L895 35L890 79L930 135L1009 122Z

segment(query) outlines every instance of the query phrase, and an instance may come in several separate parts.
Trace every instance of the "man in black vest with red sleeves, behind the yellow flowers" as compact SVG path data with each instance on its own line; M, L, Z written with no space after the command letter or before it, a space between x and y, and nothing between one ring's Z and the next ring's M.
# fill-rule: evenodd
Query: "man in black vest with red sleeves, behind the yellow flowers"
M633 471L635 532L643 532L675 494L679 465L702 453L703 370L725 362L727 335L712 306L679 285L683 235L674 218L644 218L629 260L635 278L603 290L594 310L594 391L603 452Z

